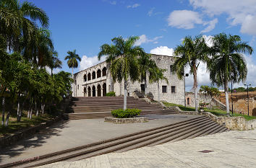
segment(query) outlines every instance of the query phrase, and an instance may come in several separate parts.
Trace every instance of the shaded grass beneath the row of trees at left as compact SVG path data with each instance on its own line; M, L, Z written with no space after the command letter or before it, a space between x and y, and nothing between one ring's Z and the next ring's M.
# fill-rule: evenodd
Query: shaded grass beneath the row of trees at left
M5 115L6 117L6 115ZM32 119L22 117L20 123L17 123L17 119L14 116L10 116L8 127L0 125L0 137L8 136L14 132L21 131L25 128L30 128L40 123L45 123L49 120L52 120L54 116L44 114L36 117L33 115ZM0 112L0 120L1 120L1 112Z

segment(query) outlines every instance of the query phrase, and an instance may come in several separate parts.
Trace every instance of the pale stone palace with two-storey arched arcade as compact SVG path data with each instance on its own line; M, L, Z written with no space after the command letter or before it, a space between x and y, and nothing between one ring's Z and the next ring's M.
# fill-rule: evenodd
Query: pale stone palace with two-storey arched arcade
M164 76L168 79L159 81L160 100L184 105L184 79L179 80L176 74L172 73L172 64L174 57L152 54L151 57L159 68L165 68ZM148 94L153 100L158 99L158 84L150 84L147 75ZM106 61L98 63L95 66L87 68L74 74L74 97L104 97L107 92L111 92L111 73L108 71ZM124 95L124 82L113 84L113 90L116 96ZM133 92L143 93L145 91L144 82L128 80L127 96L132 96Z

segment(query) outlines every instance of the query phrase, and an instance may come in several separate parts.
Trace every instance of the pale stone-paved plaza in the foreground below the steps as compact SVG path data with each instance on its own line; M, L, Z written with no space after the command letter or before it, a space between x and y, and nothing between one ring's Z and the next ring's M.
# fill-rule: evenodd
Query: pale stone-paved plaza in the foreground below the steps
M204 151L204 152L202 152ZM256 167L256 131L229 131L46 167ZM43 168L42 167L42 168Z

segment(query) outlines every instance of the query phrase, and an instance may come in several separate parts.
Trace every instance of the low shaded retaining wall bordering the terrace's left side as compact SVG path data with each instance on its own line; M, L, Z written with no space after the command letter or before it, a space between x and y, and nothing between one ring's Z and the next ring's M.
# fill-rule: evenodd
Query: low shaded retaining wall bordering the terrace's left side
M43 128L46 128L53 123L56 123L57 121L61 120L61 117L55 118L54 120L50 120L46 123L40 123L39 125L35 125L34 127L27 128L23 131L18 131L14 133L14 135L6 136L0 138L0 147L5 147L12 145L16 143L17 141L20 141L23 138L27 138L29 136L32 136L33 134L37 133L38 131L42 130Z

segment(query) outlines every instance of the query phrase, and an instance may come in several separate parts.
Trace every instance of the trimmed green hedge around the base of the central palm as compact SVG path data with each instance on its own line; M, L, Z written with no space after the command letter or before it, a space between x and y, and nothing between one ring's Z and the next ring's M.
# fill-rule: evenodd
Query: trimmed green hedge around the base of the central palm
M114 118L134 118L137 115L140 115L141 110L139 109L118 109L118 110L112 110L111 114Z

